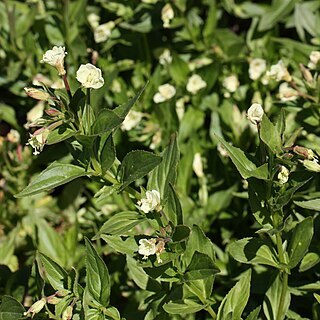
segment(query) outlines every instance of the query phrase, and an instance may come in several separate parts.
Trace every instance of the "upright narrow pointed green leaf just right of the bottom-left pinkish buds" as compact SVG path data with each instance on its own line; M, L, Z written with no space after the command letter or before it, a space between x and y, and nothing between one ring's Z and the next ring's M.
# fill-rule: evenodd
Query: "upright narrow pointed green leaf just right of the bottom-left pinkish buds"
M86 284L92 298L107 307L110 300L110 277L107 266L91 242L86 242Z

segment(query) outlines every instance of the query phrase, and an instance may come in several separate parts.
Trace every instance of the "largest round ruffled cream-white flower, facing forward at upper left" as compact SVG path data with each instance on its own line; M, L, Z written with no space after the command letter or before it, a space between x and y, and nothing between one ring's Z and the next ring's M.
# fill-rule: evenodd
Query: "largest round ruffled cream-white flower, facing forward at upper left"
M99 89L104 84L101 70L91 63L82 64L77 71L77 80L85 88Z

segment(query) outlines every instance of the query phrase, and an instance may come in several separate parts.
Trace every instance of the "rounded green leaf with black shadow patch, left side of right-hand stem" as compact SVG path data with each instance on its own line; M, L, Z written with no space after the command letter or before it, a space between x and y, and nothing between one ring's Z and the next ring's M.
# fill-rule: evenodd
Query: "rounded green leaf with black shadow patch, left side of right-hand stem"
M235 241L228 247L228 252L241 263L265 264L272 267L279 264L273 247L262 239L244 238Z

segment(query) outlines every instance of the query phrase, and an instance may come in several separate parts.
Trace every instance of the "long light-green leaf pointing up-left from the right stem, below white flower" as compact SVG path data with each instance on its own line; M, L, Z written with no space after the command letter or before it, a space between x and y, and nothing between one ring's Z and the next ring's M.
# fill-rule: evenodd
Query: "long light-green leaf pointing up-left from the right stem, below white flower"
M216 134L215 137L226 148L232 162L237 167L243 179L250 177L264 180L268 179L268 166L266 164L257 168L256 165L246 157L245 153L241 149L231 146L223 138L217 136Z

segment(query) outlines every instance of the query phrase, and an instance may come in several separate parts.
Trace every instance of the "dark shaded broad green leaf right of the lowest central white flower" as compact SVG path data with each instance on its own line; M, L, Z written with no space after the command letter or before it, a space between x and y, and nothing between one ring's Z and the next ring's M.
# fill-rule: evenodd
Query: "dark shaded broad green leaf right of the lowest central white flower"
M204 253L196 251L183 275L185 281L206 279L219 273L213 260Z

